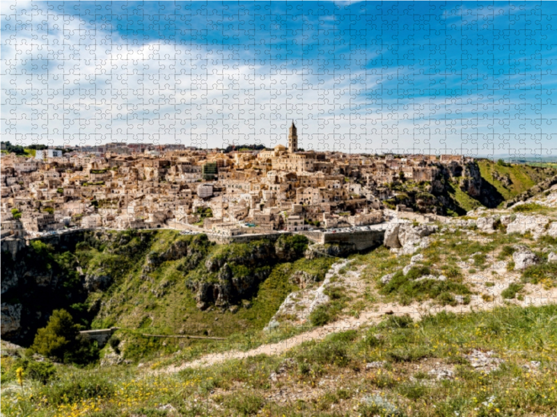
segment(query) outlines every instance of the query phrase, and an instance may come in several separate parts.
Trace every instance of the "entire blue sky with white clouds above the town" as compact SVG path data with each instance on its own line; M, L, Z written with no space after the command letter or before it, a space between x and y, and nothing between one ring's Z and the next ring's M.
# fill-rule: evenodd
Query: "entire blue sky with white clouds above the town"
M2 2L16 143L557 153L557 4Z

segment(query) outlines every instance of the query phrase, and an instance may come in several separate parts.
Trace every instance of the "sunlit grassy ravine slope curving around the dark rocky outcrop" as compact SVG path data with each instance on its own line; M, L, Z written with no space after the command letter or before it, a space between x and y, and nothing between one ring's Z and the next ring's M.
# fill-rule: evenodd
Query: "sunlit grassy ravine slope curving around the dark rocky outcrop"
M180 236L174 231L157 231L145 254L162 253L178 239L191 241L191 236ZM148 338L140 334L207 335L229 338L230 341L241 339L245 342L246 338L259 337L262 328L276 313L285 297L299 289L288 281L292 273L305 270L322 275L322 279L324 272L334 262L332 258L311 261L302 258L291 263L278 263L272 268L269 277L262 281L256 295L240 303L237 311L223 311L214 307L200 311L194 294L185 286L185 281L201 277L214 279L207 277L205 259L220 256L223 252L244 254L247 250L247 245L210 245L207 255L194 270L180 270L182 259L178 259L166 261L148 274L142 273L145 256L129 263L123 255L107 254L106 250L88 250L87 255L81 256L91 256L88 263L90 270L96 268L95 265L102 265L109 275L116 277L116 284L109 291L93 293L90 297L89 302L101 300L106 303L93 320L92 327L123 328L120 335L127 341L125 356L133 360L152 357L157 352L171 353L189 349L196 352L202 345L207 347L206 343L185 339L166 340L164 343L164 339Z

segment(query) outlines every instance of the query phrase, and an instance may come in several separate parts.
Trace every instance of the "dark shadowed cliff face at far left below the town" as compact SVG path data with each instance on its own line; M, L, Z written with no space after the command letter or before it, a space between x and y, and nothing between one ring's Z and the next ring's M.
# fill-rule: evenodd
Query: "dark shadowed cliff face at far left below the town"
M88 326L98 308L87 303L88 296L108 288L113 277L97 264L88 269L87 256L80 259L76 249L81 245L93 252L107 244L117 248L123 243L121 238L120 234L77 231L31 240L29 246L19 245L17 251L8 252L3 245L1 338L22 345L31 343L54 309L68 310L80 324Z

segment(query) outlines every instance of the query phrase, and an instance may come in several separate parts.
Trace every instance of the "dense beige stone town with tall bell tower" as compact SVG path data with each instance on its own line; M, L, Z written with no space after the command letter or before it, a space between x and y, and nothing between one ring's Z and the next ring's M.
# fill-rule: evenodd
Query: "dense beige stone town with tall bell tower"
M288 147L273 149L117 142L35 156L3 152L2 236L97 227L228 236L363 227L382 222L389 184L434 181L443 165L468 159L304 151L294 122Z

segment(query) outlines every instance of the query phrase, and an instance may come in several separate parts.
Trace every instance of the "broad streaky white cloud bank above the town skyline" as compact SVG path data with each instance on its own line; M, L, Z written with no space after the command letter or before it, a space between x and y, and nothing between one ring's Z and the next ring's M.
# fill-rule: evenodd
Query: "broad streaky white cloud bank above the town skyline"
M2 8L5 140L269 146L285 143L295 120L306 149L429 152L485 149L514 134L503 119L494 122L505 108L492 97L446 97L442 85L439 95L414 97L416 69L333 72L277 67L241 48L127 44L44 4L18 1L17 16Z

